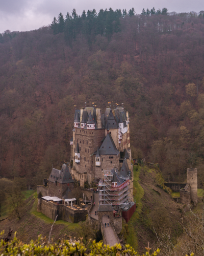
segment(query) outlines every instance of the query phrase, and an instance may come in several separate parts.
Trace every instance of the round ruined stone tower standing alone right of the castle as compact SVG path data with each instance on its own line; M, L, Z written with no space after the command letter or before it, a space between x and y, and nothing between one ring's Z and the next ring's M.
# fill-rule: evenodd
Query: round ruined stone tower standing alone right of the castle
M197 169L187 169L187 183L190 184L190 200L197 204Z

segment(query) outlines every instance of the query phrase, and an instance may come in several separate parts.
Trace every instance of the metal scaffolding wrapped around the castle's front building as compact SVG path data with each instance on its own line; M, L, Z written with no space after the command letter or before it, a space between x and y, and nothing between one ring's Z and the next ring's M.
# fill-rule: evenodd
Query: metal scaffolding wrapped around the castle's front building
M114 172L118 175L118 170ZM114 172L112 169L103 171L103 180L98 183L99 187L99 205L112 205L114 210L129 210L135 203L130 198L130 175L123 178L118 175L123 181L122 184L113 182Z

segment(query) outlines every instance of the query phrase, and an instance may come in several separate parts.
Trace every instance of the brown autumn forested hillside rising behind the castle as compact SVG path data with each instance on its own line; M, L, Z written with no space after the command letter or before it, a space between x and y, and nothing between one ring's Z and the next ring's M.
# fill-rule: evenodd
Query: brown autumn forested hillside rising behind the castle
M130 113L133 157L169 181L197 166L204 182L204 17L164 9L73 10L0 35L1 177L41 183L69 161L74 108L111 101Z

